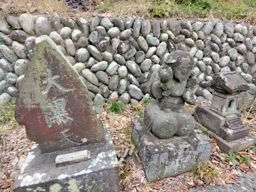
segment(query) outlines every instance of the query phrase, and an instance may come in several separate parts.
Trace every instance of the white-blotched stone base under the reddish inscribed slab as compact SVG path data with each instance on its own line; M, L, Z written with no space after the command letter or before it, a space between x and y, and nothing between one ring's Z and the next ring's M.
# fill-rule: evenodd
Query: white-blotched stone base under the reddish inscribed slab
M29 152L13 191L119 192L119 166L109 127L105 127L105 141L104 146L89 144L50 154L41 154L35 147ZM82 150L90 151L88 160L56 166L57 156L69 157L69 153Z

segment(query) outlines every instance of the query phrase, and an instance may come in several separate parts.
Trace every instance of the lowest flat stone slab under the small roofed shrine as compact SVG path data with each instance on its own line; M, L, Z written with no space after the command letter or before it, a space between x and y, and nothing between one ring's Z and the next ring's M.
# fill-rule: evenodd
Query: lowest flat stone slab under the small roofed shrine
M211 131L207 131L209 136L214 138L217 141L218 146L223 152L239 152L243 151L249 146L251 146L256 140L252 136L246 136L242 139L234 140L234 141L226 141L219 137L218 135L212 133Z

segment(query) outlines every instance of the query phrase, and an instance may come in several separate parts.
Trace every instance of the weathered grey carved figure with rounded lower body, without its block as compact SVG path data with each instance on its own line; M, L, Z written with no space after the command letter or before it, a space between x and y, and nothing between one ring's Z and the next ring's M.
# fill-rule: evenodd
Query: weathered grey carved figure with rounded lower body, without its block
M156 100L146 106L143 121L148 131L160 139L189 135L194 130L194 117L182 109L185 102L196 102L198 83L189 78L194 65L188 52L174 51L148 82Z

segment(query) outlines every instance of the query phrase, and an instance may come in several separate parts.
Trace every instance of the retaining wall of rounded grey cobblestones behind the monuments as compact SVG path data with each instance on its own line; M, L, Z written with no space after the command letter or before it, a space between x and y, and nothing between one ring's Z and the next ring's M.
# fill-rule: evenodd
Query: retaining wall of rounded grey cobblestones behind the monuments
M209 81L218 72L238 71L254 86L256 27L187 20L71 18L11 15L0 20L0 104L18 94L34 54L35 37L49 35L83 76L92 99L137 103L147 81L166 56L184 50L194 56L192 81ZM211 90L196 95L211 99Z

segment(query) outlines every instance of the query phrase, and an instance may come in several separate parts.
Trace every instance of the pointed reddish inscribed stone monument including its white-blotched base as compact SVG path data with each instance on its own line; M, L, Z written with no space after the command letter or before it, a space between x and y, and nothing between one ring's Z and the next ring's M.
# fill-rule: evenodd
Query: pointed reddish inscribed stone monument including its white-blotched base
M96 115L81 77L50 37L36 38L19 91L16 120L37 144L14 192L119 191L110 131Z

